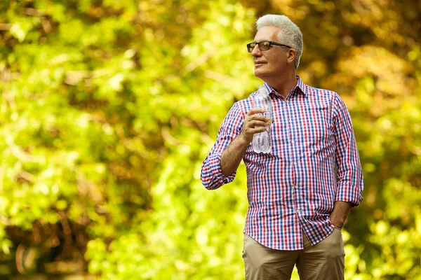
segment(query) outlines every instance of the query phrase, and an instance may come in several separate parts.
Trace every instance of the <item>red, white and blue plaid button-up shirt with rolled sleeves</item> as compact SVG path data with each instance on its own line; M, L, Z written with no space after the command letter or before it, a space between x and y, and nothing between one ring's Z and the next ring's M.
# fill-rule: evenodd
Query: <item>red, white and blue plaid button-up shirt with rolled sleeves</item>
M361 203L363 173L352 122L336 92L302 83L285 99L272 87L272 152L243 155L247 171L248 211L244 233L278 250L300 250L302 231L314 245L333 231L329 214L335 201ZM241 133L256 92L232 106L218 139L203 161L201 181L208 190L234 180L220 159Z

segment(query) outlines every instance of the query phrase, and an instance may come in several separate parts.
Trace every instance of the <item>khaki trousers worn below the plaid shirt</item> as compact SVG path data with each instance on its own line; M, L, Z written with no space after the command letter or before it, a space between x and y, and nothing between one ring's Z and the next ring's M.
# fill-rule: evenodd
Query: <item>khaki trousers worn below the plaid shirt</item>
M246 280L290 279L297 265L300 279L344 279L345 251L340 228L312 246L303 232L304 249L283 251L267 248L244 235Z

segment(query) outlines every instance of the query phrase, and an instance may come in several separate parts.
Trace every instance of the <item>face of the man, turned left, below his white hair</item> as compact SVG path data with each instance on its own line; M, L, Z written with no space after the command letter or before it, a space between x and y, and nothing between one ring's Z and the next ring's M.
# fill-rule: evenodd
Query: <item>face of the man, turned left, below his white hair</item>
M254 38L254 42L273 41L279 42L278 34L281 27L262 27ZM255 76L265 80L265 77L276 77L282 75L286 69L288 53L279 45L271 45L269 50L259 50L255 46L253 52L253 61L255 65Z

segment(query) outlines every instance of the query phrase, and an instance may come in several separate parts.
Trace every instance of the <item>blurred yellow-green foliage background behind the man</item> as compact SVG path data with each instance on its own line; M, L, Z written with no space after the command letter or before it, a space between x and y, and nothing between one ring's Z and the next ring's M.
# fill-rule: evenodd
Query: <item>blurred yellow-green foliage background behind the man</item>
M421 1L1 0L0 279L244 279L241 164L201 162L278 13L352 113L345 279L421 279ZM297 278L295 271L293 279Z

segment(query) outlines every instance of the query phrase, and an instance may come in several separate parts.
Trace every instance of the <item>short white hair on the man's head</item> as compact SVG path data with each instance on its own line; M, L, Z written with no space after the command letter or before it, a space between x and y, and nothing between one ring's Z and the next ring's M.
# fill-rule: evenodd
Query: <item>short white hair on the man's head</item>
M278 39L281 43L289 45L297 51L295 55L295 69L300 65L302 55L302 33L300 28L295 25L286 15L263 15L256 21L256 27L259 31L262 27L281 27Z

